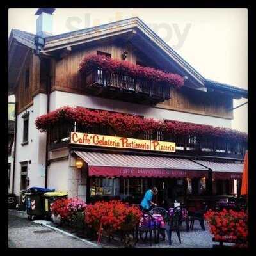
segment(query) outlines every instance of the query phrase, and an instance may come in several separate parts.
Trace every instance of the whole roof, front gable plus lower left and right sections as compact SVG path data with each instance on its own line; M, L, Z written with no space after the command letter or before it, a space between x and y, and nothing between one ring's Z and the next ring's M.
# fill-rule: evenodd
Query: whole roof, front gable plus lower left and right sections
M185 85L193 84L192 87L194 88L214 88L233 93L237 97L247 97L247 90L205 79L138 17L48 36L44 39L42 54L51 54L51 52L60 51L67 46L76 47L77 45L90 44L106 38L118 38L118 36L119 38L129 36L134 46L146 54L150 52L151 58L156 61L159 60L160 67L164 70L173 68L181 76L187 76L189 83L186 82ZM10 35L10 39L15 39L31 49L36 49L35 37L36 35L18 29L12 29Z

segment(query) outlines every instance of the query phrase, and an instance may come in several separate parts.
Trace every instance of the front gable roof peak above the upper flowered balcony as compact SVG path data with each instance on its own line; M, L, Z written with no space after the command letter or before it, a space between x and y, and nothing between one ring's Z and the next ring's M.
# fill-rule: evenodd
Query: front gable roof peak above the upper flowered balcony
M130 41L140 51L144 51L163 69L170 69L181 76L188 76L193 83L193 87L204 87L204 77L199 74L191 65L184 61L179 54L166 44L152 29L141 21L138 17L111 22L108 24L95 26L92 28L81 29L64 33L61 35L49 36L45 38L44 52L58 51L65 47L74 47L79 44L86 44L96 40L118 37L118 35L130 36Z

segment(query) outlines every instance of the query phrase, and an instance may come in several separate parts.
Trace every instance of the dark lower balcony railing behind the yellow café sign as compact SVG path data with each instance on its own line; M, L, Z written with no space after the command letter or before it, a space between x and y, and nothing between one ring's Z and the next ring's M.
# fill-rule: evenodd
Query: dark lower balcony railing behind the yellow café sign
M70 122L60 123L53 125L50 129L50 149L60 148L63 146L67 147L69 143L70 132L74 131L90 134L120 136L116 134L116 132L111 127L105 125L85 127L84 125ZM127 137L131 136L127 135ZM211 136L180 136L163 131L144 131L134 134L132 138L175 142L177 154L222 156L243 159L247 149L247 143L237 143L235 141L225 140L223 138L214 138Z

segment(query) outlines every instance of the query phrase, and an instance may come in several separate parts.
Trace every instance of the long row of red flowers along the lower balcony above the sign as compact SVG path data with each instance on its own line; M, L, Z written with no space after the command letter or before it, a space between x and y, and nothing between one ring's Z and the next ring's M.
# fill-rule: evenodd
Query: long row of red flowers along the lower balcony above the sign
M178 121L163 122L152 118L142 118L138 115L90 110L81 107L71 108L68 106L39 116L36 118L35 125L41 132L45 132L47 129L51 129L51 125L56 125L59 122L76 122L85 127L93 127L93 125L97 124L109 125L113 127L116 132L126 132L130 134L143 131L164 131L180 136L210 136L234 142L247 141L246 133L228 128Z

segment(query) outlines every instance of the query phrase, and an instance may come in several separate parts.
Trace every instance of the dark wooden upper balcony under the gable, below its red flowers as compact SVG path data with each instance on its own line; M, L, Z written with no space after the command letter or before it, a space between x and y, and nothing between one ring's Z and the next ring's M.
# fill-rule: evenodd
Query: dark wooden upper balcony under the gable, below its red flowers
M170 86L100 68L85 75L86 92L108 99L154 105L170 99Z

